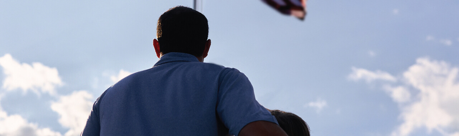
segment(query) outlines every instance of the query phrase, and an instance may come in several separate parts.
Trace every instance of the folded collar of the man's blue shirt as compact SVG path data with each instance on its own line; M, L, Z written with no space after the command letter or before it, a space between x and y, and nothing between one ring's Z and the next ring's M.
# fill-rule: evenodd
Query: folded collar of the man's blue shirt
M161 56L158 62L153 66L161 65L163 63L174 62L174 61L185 61L185 62L199 62L198 58L188 53L181 52L169 52Z

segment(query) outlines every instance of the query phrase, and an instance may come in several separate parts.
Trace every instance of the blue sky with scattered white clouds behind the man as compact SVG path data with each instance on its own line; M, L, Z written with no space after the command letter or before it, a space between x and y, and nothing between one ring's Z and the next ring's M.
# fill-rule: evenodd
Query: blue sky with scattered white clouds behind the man
M0 0L0 136L78 136L95 99L158 60L158 17L193 0ZM203 0L206 63L312 136L459 136L459 1Z

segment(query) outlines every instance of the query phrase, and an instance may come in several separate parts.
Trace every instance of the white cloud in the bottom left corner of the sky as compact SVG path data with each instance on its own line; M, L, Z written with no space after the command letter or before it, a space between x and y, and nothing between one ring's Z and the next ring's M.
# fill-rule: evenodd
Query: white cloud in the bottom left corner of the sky
M61 136L50 128L38 128L20 115L7 115L0 109L0 136Z

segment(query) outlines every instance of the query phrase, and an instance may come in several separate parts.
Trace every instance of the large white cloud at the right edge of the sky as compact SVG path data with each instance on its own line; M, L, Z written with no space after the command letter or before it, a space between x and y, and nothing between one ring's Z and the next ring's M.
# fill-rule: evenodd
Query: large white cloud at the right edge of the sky
M391 135L409 136L420 128L443 136L459 135L458 73L459 68L446 62L418 58L398 80L403 85L383 85L399 105L403 120Z

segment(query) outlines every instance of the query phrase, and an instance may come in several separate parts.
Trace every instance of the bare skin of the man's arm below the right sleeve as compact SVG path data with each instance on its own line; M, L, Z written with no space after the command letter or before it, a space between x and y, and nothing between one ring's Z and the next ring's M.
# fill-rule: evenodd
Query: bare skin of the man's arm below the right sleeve
M254 121L242 128L238 136L288 136L279 125L269 121Z

